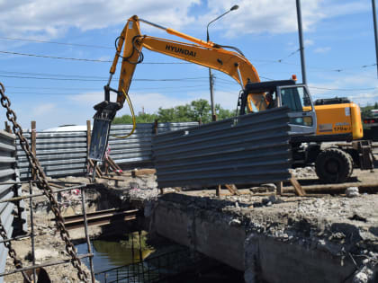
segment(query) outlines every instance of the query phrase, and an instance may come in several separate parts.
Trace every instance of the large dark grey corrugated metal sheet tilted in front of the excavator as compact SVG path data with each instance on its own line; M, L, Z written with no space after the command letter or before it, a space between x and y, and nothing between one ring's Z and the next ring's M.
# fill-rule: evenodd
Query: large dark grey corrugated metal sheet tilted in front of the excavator
M262 111L158 134L153 139L160 188L290 179L288 109Z

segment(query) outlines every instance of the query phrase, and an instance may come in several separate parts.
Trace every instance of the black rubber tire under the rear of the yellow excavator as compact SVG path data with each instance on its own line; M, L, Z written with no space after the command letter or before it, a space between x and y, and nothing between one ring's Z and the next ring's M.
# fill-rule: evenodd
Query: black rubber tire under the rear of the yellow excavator
M327 148L316 158L315 172L328 183L347 181L353 172L353 158L341 149Z

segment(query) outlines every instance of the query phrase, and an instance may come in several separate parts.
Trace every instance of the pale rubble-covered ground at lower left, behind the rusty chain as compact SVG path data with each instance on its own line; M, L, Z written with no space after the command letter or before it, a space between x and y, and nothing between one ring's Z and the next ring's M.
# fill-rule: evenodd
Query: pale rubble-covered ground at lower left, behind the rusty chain
M70 181L76 178L68 178ZM40 193L41 191L34 187L33 194ZM29 186L23 185L23 192L29 193ZM81 198L76 190L61 193L59 196L59 203L61 204L61 212L63 215L81 214ZM30 225L30 202L26 199L26 212L28 216L28 229L31 233ZM50 261L67 260L68 256L65 243L61 240L58 229L55 225L55 220L52 212L49 210L48 200L46 197L41 196L33 199L33 217L34 217L34 234L35 236L35 258L36 265L44 264ZM89 204L92 204L89 201ZM91 207L89 208L91 210ZM81 230L81 229L80 229ZM75 232L76 230L73 230ZM72 234L69 232L70 235ZM75 234L75 233L74 233ZM84 233L83 233L84 234ZM72 237L71 237L72 238ZM31 238L23 238L13 242L13 248L16 251L17 257L23 261L23 267L31 266ZM82 263L83 270L90 278L89 270L85 264ZM63 264L49 266L44 268L49 279L52 282L80 282L77 278L77 270L68 261ZM5 272L14 270L13 261L8 256L5 266ZM21 273L15 273L4 277L4 282L23 282Z

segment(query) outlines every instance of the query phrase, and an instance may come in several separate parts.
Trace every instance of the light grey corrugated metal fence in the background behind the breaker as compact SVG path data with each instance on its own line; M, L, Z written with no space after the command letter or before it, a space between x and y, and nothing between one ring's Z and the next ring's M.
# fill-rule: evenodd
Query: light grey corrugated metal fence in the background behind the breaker
M158 123L157 132L166 132L198 125L187 123ZM135 132L128 138L131 125L112 125L109 140L110 155L117 164L151 162L151 139L155 135L154 123L138 124ZM31 134L24 133L31 142ZM77 175L86 172L86 131L75 132L37 132L37 157L48 176L58 177ZM30 166L23 149L17 143L17 156L21 179L31 177Z

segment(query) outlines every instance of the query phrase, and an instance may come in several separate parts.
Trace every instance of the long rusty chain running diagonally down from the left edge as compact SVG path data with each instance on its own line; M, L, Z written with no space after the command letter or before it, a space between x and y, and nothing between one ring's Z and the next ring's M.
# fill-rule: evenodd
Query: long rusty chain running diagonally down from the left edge
M14 111L10 108L11 102L9 101L9 98L5 95L4 85L1 83L0 83L0 94L1 94L1 98L0 98L1 105L6 109L6 118L10 122L12 122L14 134L19 138L20 145L23 147L23 151L25 152L29 160L29 163L31 164L31 167L36 174L36 178L38 180L37 186L40 190L43 190L44 194L49 199L49 204L51 206L52 212L54 213L55 221L56 221L56 225L58 226L60 237L66 243L66 251L72 258L71 263L73 267L76 268L77 270L77 277L78 279L82 281L88 282L88 276L81 267L81 261L76 255L75 246L71 242L67 229L64 226L64 219L60 214L57 199L55 199L54 197L53 190L49 186L49 182L47 181L45 172L43 172L43 169L40 166L40 162L38 161L37 157L31 152L31 148L29 146L27 139L23 137L23 128L21 128L21 126L16 121L17 116L14 113Z

